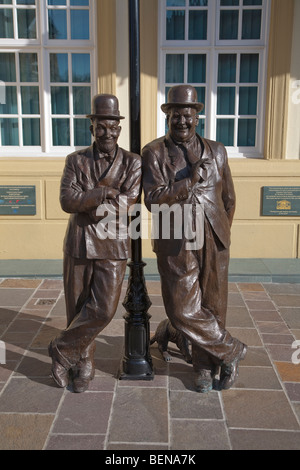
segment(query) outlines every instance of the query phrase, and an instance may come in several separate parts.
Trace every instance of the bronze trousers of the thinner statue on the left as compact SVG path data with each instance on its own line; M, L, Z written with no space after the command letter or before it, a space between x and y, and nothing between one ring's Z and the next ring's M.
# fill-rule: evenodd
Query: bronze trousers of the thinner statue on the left
M117 310L126 259L80 259L64 256L67 327L56 338L65 359L76 364L86 357L96 336Z

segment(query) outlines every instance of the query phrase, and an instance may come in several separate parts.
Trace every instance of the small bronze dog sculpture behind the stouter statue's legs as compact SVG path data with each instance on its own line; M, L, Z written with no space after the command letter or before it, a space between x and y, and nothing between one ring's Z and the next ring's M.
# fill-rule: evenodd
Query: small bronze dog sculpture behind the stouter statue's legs
M189 350L189 342L185 336L176 328L174 328L167 318L160 322L154 336L150 340L150 344L157 342L158 350L166 362L172 360L168 353L168 342L175 343L180 352L183 354L184 359L189 364L192 363L192 356Z

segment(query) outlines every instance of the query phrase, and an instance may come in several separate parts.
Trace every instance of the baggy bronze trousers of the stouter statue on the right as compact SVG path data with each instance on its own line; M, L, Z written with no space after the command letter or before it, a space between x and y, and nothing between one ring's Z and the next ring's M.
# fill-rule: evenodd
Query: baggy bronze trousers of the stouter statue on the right
M202 249L183 247L176 256L157 253L165 310L192 344L195 371L232 362L244 347L225 329L229 250L207 219L204 224Z

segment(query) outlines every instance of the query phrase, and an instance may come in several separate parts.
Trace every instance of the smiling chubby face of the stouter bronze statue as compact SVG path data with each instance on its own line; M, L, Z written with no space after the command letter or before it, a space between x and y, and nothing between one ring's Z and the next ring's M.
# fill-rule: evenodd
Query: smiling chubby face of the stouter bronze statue
M172 108L168 116L170 134L177 142L187 142L196 133L199 117L194 108Z

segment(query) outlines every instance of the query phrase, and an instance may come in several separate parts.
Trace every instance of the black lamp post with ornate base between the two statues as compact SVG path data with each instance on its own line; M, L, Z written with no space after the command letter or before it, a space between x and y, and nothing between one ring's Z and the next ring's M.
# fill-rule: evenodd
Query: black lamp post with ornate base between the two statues
M140 26L139 0L128 0L129 6L129 94L130 94L130 150L141 152L140 123ZM140 202L137 201L138 203ZM135 220L136 216L132 217ZM141 230L141 214L139 215ZM125 319L125 352L120 379L152 380L154 377L150 355L150 315L141 237L131 240L129 279L123 306Z

